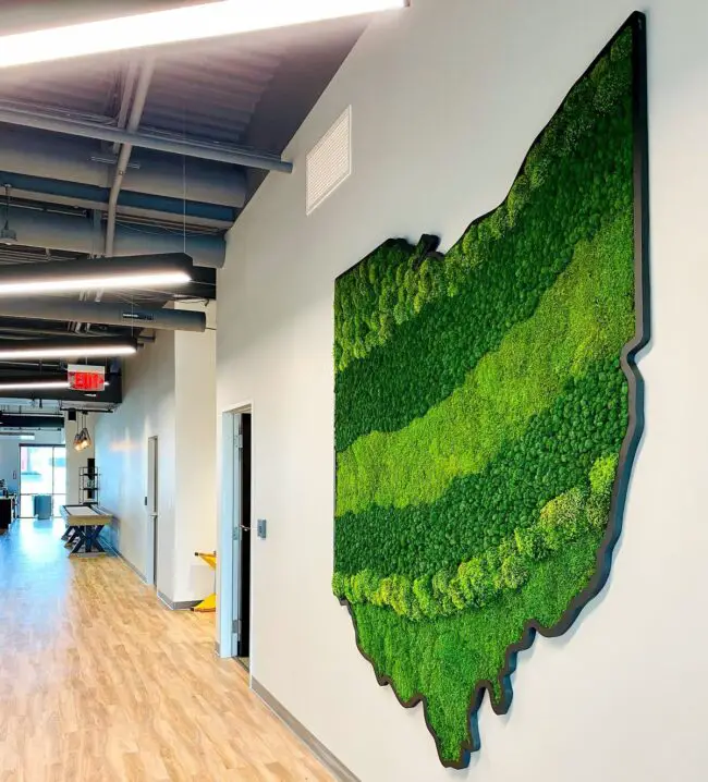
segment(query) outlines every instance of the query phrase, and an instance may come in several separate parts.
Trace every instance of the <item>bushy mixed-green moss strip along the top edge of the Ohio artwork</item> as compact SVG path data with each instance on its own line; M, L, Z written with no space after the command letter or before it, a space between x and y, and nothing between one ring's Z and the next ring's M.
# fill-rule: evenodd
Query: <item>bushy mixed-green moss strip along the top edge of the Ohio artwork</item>
M505 239L538 188L550 190L557 179L558 160L582 156L578 143L594 130L598 114L611 113L626 101L632 77L628 59L631 41L620 38L609 57L579 82L563 107L548 123L500 209L475 221L442 264L419 267L422 258L402 240L383 244L356 271L344 276L337 286L334 362L343 370L363 358L393 334L395 328L415 318L428 303L454 296L468 284L471 271L493 255L491 245ZM534 205L538 203L538 194Z

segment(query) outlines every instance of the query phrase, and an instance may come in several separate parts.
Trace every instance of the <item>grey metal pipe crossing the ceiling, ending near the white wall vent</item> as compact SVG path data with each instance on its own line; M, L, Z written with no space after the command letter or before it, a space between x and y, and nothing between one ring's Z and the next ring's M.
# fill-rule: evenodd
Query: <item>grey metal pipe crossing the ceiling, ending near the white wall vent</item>
M85 120L66 120L60 117L51 117L35 111L26 111L14 108L0 108L0 122L21 127L36 127L40 131L52 133L64 133L69 136L82 136L84 138L97 138L102 142L114 144L132 144L134 147L155 149L158 152L168 155L184 155L188 158L202 158L203 160L215 160L220 163L233 166L245 166L252 169L264 169L266 171L280 171L291 173L293 164L279 156L265 152L241 149L239 147L225 146L216 143L185 140L157 135L156 133L132 133L119 127L99 125L96 122Z

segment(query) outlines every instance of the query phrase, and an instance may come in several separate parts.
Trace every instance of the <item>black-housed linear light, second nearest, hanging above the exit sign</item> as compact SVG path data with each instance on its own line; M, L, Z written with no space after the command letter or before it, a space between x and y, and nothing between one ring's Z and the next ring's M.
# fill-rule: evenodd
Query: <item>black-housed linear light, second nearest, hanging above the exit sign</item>
M12 264L0 267L0 296L183 285L192 269L184 253Z

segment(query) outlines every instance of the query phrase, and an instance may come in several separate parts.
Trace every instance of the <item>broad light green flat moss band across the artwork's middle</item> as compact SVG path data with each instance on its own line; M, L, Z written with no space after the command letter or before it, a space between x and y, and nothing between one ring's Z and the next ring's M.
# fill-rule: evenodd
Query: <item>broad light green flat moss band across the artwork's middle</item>
M534 315L512 327L464 386L395 432L361 437L338 456L337 514L435 502L480 472L572 377L619 354L634 330L632 212L581 242Z

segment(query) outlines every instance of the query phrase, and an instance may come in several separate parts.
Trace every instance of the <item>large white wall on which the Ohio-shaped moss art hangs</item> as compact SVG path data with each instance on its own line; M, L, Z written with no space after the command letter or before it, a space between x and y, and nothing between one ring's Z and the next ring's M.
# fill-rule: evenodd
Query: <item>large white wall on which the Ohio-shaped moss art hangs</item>
M511 713L484 705L469 771L439 766L420 708L376 684L331 595L333 282L389 236L435 232L448 247L495 207L635 5L413 0L363 36L286 150L293 174L271 174L229 236L218 407L254 404L254 518L269 521L253 552L252 671L364 782L706 778L708 4L642 7L654 342L625 531L576 630L521 656ZM354 174L306 218L305 155L349 103Z

